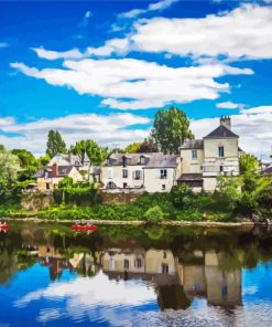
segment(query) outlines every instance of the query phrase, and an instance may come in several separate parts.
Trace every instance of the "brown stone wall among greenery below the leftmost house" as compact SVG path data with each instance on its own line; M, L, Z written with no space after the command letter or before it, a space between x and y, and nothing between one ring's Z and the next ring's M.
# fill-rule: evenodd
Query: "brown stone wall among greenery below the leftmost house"
M23 194L21 204L23 209L37 212L41 209L50 207L53 203L53 194L43 192Z

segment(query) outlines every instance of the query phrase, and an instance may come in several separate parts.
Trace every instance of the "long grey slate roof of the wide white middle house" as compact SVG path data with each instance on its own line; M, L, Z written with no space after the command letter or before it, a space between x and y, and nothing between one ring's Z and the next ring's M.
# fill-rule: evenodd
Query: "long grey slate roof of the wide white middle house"
M122 166L123 157L128 160L128 166L139 166L141 157L145 158L143 168L176 168L178 164L178 155L163 155L161 152L151 154L112 154L108 159L111 160L110 165L108 160L102 162L102 166Z

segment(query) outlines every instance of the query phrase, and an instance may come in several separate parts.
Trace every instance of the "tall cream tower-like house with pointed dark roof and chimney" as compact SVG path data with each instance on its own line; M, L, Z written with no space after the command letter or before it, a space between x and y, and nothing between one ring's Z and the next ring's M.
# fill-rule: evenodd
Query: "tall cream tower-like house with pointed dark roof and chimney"
M239 136L231 130L230 117L221 117L220 125L203 139L186 140L182 146L182 177L195 191L213 192L217 177L239 175Z

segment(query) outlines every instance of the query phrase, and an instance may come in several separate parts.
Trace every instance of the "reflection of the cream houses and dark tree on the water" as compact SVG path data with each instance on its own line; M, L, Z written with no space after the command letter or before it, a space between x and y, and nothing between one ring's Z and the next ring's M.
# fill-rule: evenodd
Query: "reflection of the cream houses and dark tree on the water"
M155 285L162 309L186 308L195 296L209 304L231 307L241 304L241 271L219 267L220 253L195 251L186 263L163 250L110 249L102 257L109 278L141 278Z

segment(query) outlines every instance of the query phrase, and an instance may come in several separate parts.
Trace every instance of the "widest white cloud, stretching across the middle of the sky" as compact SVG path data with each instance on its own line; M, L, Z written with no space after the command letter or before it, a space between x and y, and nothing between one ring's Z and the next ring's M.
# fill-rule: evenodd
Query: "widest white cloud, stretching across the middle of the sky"
M65 61L63 66L39 71L23 63L11 64L23 74L48 84L72 87L78 94L101 96L106 98L104 104L120 109L216 99L221 92L229 92L229 85L215 78L253 74L248 68L222 64L174 68L134 59Z

